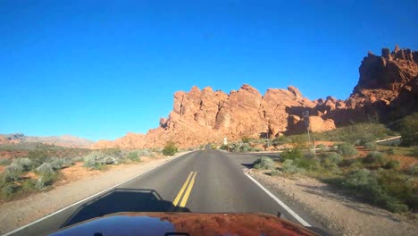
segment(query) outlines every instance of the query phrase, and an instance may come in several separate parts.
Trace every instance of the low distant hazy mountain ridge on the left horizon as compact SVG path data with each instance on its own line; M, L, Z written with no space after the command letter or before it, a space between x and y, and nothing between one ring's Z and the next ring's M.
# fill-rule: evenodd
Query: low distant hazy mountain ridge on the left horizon
M95 142L71 135L62 136L26 136L23 133L0 134L0 144L37 142L61 147L89 148Z

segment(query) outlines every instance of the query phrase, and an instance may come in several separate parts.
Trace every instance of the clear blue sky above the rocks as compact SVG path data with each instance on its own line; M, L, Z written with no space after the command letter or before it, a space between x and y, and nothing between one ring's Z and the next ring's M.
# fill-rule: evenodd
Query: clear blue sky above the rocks
M0 0L0 133L146 132L193 85L346 99L368 50L418 49L417 3Z

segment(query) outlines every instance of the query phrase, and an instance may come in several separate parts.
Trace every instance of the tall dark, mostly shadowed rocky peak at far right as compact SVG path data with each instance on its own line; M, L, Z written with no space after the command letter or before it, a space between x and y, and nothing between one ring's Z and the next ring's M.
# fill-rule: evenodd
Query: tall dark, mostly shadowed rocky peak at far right
M326 114L338 125L351 122L395 122L418 111L418 51L396 46L381 56L369 52L359 68L360 78L346 100L348 110Z

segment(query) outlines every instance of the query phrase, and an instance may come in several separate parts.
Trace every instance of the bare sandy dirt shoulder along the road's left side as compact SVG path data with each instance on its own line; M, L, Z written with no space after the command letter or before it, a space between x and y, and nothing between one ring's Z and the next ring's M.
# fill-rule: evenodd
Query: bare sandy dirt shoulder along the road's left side
M184 154L186 152L171 157L141 157L138 164L110 165L106 171L88 171L82 164L63 169L62 177L54 184L54 189L0 204L0 234L31 223Z

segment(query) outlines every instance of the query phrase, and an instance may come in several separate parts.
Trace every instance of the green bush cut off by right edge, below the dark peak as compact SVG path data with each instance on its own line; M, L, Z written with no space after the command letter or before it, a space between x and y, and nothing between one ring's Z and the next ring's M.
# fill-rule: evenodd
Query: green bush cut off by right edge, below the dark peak
M400 122L402 145L418 145L418 113L405 116Z

